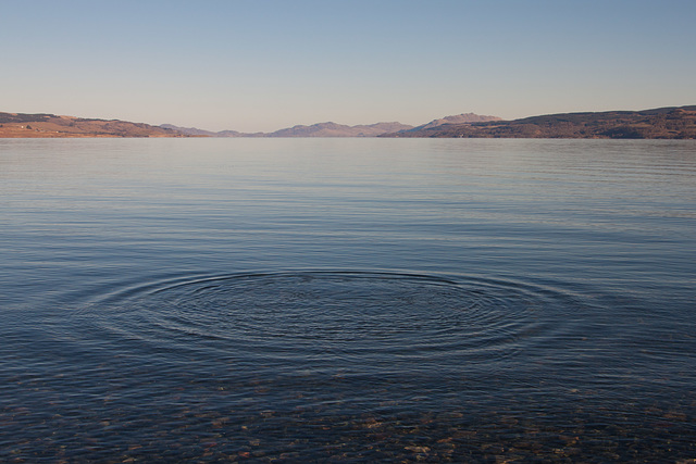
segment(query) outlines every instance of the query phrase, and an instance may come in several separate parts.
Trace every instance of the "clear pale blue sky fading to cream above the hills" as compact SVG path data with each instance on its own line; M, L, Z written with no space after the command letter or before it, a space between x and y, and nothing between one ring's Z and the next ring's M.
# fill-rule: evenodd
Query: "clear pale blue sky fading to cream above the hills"
M696 104L696 0L0 0L0 111L275 130Z

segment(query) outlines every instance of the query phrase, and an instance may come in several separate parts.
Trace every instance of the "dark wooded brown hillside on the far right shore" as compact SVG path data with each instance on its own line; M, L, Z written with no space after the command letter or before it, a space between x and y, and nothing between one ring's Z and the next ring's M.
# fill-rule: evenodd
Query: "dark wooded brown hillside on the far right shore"
M696 139L696 106L443 124L383 137Z

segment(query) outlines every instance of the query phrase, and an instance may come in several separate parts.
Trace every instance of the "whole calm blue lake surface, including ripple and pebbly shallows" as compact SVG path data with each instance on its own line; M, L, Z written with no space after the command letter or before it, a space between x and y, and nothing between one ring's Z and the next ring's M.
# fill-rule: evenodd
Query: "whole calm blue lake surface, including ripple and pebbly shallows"
M696 142L0 140L0 460L696 457Z

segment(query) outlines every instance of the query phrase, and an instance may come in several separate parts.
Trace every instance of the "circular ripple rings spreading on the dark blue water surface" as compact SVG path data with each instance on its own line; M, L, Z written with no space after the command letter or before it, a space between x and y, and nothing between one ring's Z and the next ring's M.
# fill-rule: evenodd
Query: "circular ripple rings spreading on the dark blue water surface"
M90 331L262 364L395 368L490 362L558 331L563 296L519 284L393 273L226 275L130 290L83 313Z

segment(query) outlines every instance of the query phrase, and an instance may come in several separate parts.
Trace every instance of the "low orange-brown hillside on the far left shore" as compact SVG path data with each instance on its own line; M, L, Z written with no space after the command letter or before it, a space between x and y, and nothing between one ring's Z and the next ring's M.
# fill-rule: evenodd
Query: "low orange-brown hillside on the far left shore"
M0 113L0 138L187 137L159 126L54 114Z

